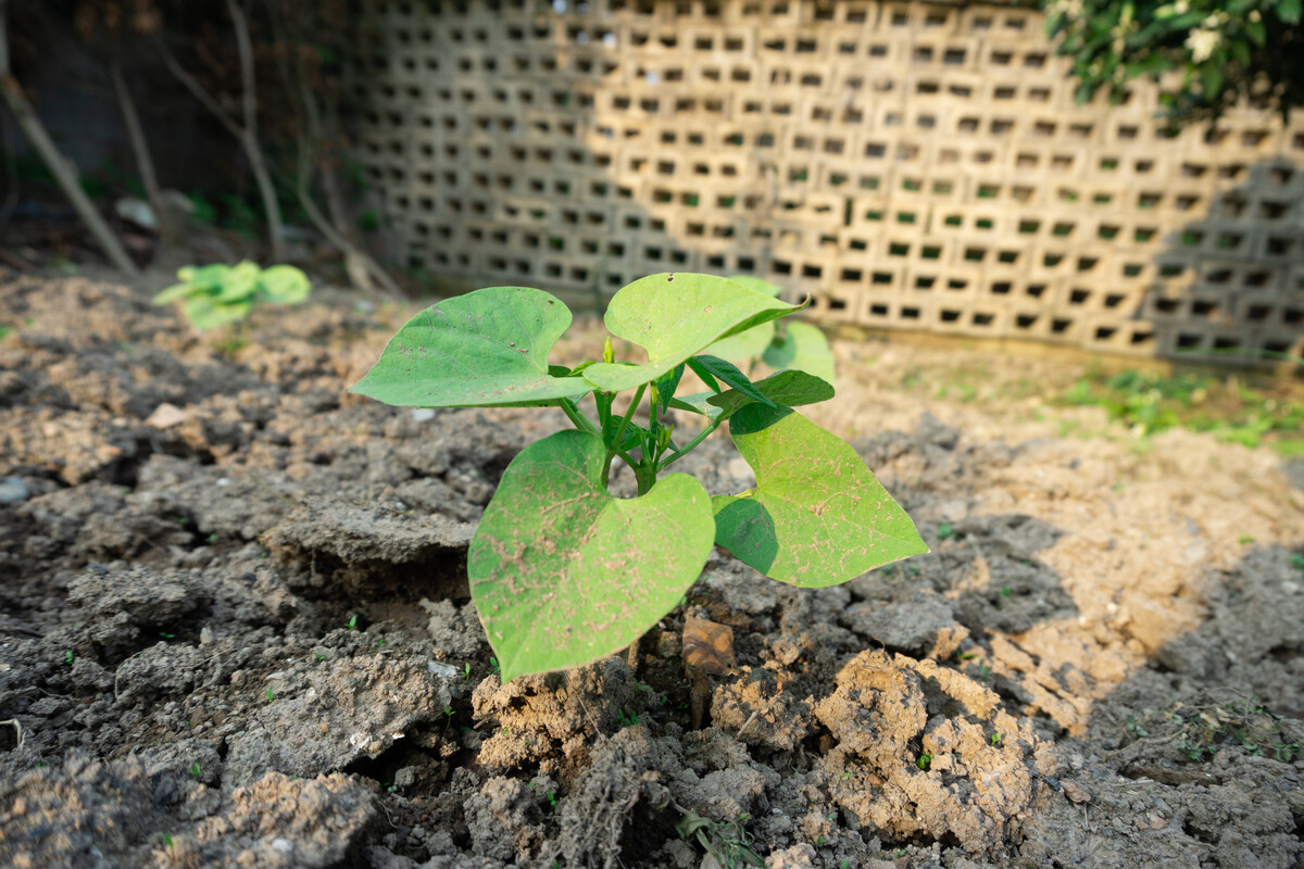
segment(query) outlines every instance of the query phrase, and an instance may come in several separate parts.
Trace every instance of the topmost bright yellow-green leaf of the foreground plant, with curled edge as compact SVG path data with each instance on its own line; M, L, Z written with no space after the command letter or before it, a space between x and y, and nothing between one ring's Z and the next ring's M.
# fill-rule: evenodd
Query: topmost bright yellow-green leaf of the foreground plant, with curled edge
M617 392L655 380L703 348L801 310L726 278L674 272L634 281L612 297L606 328L644 348L643 365L600 362L584 378Z

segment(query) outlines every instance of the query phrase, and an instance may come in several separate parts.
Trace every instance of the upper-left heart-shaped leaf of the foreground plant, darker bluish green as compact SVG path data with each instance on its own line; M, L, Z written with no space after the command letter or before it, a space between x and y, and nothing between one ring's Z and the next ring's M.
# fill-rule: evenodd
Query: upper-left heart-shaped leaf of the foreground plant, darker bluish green
M548 352L570 327L566 305L528 287L489 287L409 319L351 392L419 408L519 408L593 391L553 377Z

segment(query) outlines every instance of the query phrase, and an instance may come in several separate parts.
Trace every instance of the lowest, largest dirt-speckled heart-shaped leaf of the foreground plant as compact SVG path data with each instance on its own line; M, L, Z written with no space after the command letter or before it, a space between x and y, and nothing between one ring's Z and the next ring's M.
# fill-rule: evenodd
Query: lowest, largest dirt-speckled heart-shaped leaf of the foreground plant
M711 554L711 499L669 474L606 492L602 442L561 431L507 466L467 555L471 599L509 681L587 664L669 612Z

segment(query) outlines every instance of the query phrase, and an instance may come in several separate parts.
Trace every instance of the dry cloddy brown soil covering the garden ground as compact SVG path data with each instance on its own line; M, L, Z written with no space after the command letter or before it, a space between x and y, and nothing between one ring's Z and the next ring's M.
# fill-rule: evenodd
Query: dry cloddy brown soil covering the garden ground
M348 395L393 305L198 337L146 298L0 284L0 865L1304 865L1266 448L1054 408L1072 361L841 341L810 416L932 552L822 590L717 552L636 671L502 685L467 542L565 418ZM750 482L726 438L682 464ZM685 675L689 612L734 671Z

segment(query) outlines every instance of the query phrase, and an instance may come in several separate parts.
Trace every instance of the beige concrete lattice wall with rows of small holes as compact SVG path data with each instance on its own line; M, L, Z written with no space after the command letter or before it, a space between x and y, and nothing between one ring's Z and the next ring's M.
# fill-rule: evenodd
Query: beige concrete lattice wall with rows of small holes
M361 156L409 262L600 301L755 274L825 322L1304 349L1304 119L1078 107L1039 14L801 0L369 4Z

